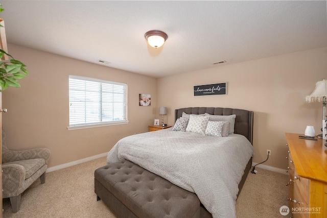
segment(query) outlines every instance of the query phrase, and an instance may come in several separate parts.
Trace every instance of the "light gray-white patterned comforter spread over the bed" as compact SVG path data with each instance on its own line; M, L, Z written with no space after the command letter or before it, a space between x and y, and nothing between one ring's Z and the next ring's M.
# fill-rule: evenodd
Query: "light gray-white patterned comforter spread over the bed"
M213 217L236 217L238 184L253 156L243 136L205 136L171 129L119 140L107 162L127 159L171 183L195 192Z

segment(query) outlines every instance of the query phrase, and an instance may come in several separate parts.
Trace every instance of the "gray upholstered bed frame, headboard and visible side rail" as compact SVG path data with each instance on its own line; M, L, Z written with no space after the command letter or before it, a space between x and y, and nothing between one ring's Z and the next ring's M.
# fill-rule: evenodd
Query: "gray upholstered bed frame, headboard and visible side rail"
M190 107L190 108L180 108L175 110L175 120L182 116L182 113L187 114L212 114L212 115L232 115L236 114L235 117L235 126L234 133L244 135L252 144L253 140L253 111L242 110L242 109L233 109L233 108L214 108L214 107ZM250 172L252 165L252 157L246 165L242 180L239 183L239 193L244 185L246 177ZM239 195L238 193L238 195ZM203 217L212 217L212 214L209 213L201 204L201 218Z

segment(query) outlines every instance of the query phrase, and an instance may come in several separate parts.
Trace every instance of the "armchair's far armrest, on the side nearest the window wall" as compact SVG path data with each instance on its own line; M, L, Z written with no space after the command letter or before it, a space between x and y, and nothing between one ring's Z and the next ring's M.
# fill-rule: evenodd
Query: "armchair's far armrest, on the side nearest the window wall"
M45 164L48 164L48 160L50 158L50 150L45 148L31 149L25 151L9 150L3 153L2 158L3 163L34 158L43 158L45 160Z

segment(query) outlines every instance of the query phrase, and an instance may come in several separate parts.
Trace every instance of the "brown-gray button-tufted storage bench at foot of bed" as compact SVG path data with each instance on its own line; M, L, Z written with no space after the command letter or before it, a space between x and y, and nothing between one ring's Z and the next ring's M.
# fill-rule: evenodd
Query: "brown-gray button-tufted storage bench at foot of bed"
M118 217L200 217L195 193L128 160L96 169L95 192Z

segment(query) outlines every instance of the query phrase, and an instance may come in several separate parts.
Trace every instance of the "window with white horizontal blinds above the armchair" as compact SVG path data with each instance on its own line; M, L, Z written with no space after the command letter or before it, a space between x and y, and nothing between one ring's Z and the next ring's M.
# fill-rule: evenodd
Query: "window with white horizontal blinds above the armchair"
M69 76L68 130L127 123L127 84Z

